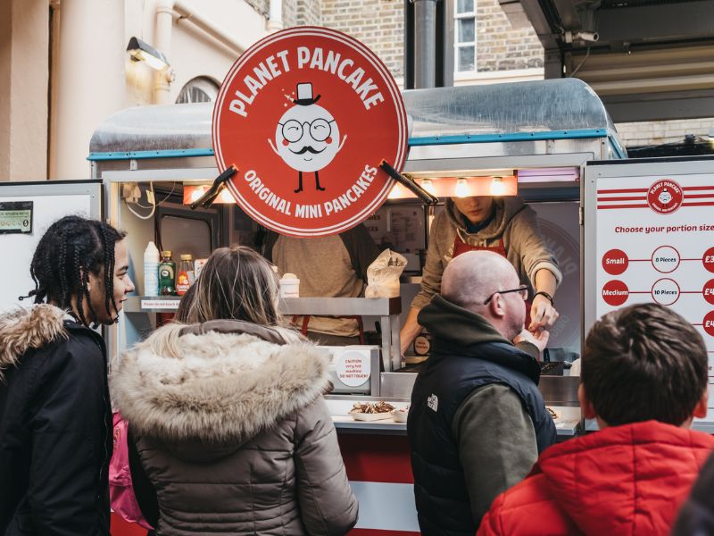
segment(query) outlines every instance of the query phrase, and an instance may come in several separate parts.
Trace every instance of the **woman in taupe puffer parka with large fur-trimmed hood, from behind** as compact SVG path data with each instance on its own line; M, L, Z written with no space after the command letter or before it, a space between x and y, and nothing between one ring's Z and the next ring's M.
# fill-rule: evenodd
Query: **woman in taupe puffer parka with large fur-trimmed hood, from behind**
M154 331L111 378L156 534L348 532L357 501L322 398L328 357L278 327L270 264L246 247L220 248L190 294L186 323Z

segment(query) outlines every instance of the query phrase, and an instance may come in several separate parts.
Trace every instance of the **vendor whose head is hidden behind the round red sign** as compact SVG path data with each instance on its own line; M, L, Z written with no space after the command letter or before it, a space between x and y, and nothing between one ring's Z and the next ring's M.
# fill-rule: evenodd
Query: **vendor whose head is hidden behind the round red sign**
M300 297L361 297L367 286L367 267L379 250L364 225L339 235L298 239L271 232L265 257L280 275L295 273ZM288 318L310 339L343 346L364 341L361 317L297 316Z

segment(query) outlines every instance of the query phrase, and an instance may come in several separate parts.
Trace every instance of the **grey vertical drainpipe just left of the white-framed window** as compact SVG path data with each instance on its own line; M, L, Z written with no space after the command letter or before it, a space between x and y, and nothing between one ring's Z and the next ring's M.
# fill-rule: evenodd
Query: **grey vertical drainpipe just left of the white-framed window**
M436 2L414 3L414 87L436 87Z

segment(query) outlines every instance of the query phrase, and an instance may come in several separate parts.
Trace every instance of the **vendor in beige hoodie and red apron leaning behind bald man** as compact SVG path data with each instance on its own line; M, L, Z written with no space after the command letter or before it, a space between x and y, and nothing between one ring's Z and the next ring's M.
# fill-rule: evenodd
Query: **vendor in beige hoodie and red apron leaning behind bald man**
M528 287L528 331L544 330L558 319L553 296L562 274L540 234L535 211L519 197L452 197L431 225L421 289L400 332L402 353L422 330L417 315L441 291L446 264L479 249L506 257Z

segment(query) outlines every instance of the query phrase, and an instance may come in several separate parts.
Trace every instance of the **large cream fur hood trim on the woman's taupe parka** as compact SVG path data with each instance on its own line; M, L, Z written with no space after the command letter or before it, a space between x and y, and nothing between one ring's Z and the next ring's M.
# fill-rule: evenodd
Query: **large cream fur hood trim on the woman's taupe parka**
M285 339L276 344L239 327L196 333L165 325L115 364L113 401L140 435L242 444L329 385L329 356L295 335Z

